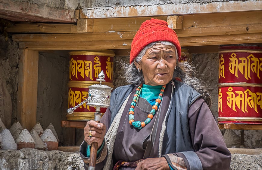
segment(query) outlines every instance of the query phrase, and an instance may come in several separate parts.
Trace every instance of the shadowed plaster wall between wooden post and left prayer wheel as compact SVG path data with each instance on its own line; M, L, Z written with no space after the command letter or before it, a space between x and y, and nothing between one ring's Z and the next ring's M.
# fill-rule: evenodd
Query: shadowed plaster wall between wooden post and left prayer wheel
M67 138L71 137L67 137L70 129L61 127L61 121L66 120L67 111L68 56L39 53L36 122L39 122L43 129L52 123L60 145L73 145L67 144Z

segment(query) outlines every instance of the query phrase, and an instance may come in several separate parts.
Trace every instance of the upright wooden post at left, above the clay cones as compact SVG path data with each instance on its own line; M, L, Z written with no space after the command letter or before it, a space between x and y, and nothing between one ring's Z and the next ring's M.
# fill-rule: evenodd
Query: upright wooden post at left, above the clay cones
M31 130L36 124L38 51L19 50L17 120Z

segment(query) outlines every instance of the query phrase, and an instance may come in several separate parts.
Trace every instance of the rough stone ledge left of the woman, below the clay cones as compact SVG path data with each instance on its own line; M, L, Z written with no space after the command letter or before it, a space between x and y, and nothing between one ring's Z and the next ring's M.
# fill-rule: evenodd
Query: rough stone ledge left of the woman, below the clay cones
M0 169L84 169L79 153L23 148L0 150Z

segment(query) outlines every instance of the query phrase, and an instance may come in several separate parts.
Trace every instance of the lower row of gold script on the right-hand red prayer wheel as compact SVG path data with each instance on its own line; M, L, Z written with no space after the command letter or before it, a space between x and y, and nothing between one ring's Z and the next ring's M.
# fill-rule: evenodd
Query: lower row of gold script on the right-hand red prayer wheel
M248 107L254 109L258 113L257 108L262 109L262 93L253 93L249 89L233 92L233 88L229 87L226 98L226 103L229 108L236 111L238 107L243 113L248 113ZM221 94L222 97L222 94ZM219 100L220 102L220 100ZM222 107L222 104L221 104Z

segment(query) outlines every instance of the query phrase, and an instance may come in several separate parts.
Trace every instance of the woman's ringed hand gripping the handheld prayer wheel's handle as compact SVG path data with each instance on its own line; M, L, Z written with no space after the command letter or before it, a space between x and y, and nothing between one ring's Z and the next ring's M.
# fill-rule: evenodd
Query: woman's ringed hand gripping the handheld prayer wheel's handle
M93 142L98 143L98 148L102 145L105 135L105 125L103 123L97 123L94 120L90 120L86 123L84 128L84 136L87 144L91 145ZM89 137L91 130L92 137Z

